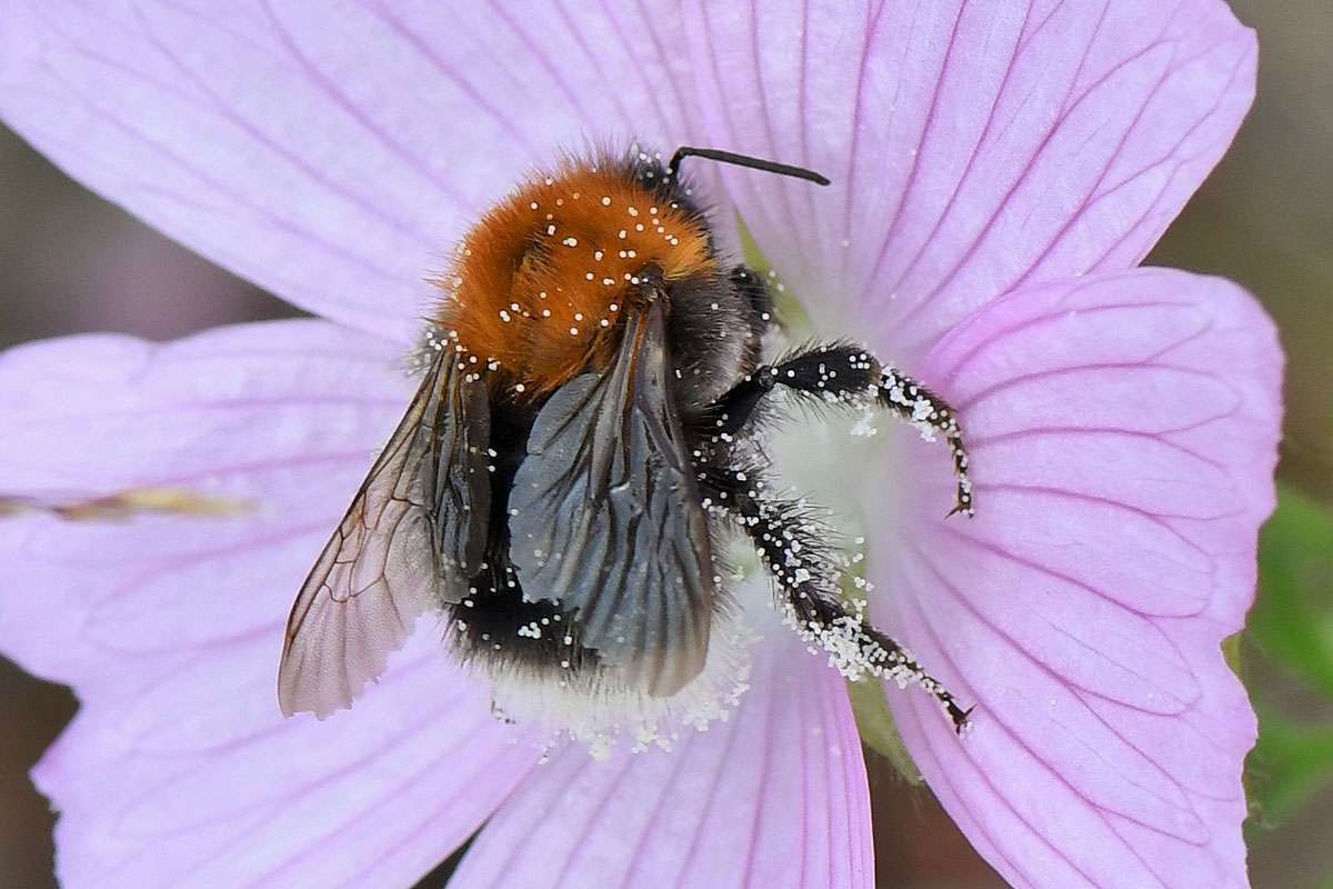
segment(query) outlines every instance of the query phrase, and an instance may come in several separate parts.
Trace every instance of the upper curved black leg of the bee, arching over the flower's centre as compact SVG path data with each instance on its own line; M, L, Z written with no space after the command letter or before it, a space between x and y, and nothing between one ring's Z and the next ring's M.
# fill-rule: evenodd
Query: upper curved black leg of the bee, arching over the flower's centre
M757 368L709 405L700 420L698 433L705 440L729 440L738 435L753 421L764 396L778 385L822 404L856 408L874 403L914 425L930 441L934 436L944 436L957 477L949 514L973 514L968 449L953 408L897 368L881 365L860 345L817 345L777 364Z

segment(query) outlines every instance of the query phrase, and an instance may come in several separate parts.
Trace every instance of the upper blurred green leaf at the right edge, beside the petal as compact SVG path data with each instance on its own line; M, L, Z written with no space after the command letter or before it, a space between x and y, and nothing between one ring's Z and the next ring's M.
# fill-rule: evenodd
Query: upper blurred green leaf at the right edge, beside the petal
M1250 638L1268 658L1333 698L1333 516L1284 488L1260 534L1258 565Z

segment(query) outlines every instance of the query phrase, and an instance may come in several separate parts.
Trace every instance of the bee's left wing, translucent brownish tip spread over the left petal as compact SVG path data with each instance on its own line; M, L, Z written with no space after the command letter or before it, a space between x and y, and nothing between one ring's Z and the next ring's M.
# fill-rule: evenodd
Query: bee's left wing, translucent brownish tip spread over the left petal
M351 706L419 614L459 600L485 548L489 420L483 385L437 355L292 605L283 713Z

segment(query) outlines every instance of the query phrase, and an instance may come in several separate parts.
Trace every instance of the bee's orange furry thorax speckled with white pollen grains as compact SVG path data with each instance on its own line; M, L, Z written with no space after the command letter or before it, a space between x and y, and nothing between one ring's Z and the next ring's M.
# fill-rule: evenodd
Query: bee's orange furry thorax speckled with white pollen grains
M616 169L571 165L523 187L472 229L439 280L435 321L499 365L492 385L548 393L609 364L621 319L644 299L636 279L649 268L668 284L716 273L702 223Z

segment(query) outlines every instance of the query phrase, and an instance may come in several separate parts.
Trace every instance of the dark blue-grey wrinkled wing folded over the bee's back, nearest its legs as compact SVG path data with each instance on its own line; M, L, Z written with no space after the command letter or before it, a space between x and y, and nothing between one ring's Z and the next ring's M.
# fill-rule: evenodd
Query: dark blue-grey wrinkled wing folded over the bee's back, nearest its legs
M716 604L708 521L668 392L661 301L615 365L552 395L511 494L524 597L577 609L585 646L649 694L704 666Z

